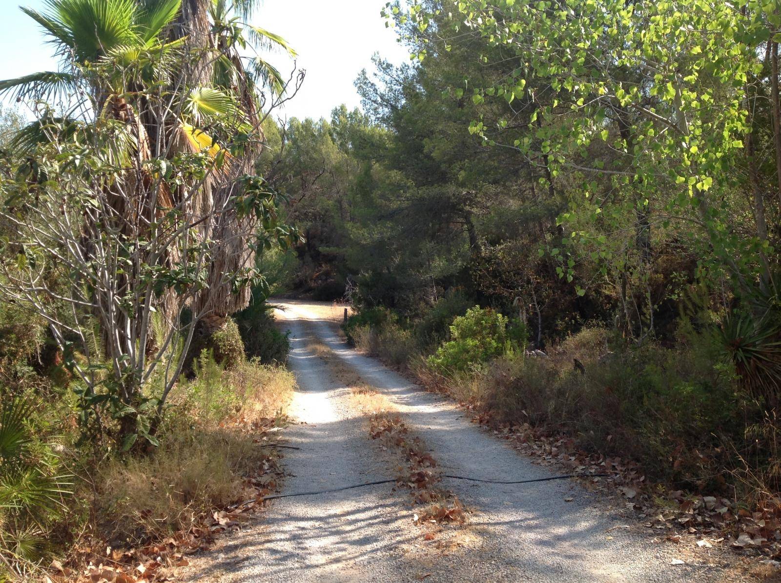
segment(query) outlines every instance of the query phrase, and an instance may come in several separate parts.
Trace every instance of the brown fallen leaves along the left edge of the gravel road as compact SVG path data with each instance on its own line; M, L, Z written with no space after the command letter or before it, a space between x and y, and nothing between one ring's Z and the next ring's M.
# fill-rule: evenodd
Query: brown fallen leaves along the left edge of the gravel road
M153 583L171 581L179 567L187 567L187 556L209 549L216 537L241 528L241 524L264 506L264 496L279 489L284 472L280 453L274 449L279 419L246 421L233 425L262 450L261 463L251 475L244 475L241 498L224 507L214 507L198 517L191 528L159 539L142 539L133 544L87 538L64 563L54 561L44 578L48 583ZM115 545L115 546L112 546Z

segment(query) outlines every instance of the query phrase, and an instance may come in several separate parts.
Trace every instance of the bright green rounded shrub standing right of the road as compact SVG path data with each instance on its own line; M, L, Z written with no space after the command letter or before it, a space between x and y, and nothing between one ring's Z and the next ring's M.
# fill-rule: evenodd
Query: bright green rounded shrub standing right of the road
M453 320L451 340L442 344L426 362L443 375L465 371L475 364L522 349L526 335L522 325L512 328L508 335L508 318L490 307L475 306Z

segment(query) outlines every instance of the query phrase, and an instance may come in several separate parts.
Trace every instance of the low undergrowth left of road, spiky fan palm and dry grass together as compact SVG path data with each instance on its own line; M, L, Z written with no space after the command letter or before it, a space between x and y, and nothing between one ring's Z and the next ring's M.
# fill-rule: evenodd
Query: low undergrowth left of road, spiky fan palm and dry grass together
M208 350L194 372L170 395L159 446L134 455L80 446L62 396L14 399L0 387L0 581L16 576L4 568L34 571L74 543L154 541L243 499L273 453L256 435L284 421L294 375L243 355L226 368ZM84 531L90 540L77 540Z

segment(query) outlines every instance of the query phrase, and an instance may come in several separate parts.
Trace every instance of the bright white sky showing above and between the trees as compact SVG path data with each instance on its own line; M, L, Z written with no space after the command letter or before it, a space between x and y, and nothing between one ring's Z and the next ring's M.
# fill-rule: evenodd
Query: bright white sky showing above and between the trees
M287 117L328 117L337 105L360 105L353 81L369 69L379 52L391 62L405 62L407 52L385 27L380 9L387 0L266 0L252 23L284 37L298 52L298 68L306 69L304 86L289 101ZM0 79L52 70L52 47L40 28L18 5L43 9L44 0L0 0ZM280 71L292 62L270 55Z

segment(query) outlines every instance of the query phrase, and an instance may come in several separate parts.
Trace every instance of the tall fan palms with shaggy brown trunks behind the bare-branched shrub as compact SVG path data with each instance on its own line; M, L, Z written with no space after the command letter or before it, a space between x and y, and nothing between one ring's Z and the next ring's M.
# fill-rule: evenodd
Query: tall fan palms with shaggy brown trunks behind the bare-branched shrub
M184 226L186 238L192 236L189 243L162 247L160 253L169 267L175 268L193 244L209 245L210 262L202 269L205 276L198 272L198 283L187 294L197 322L209 318L208 325L201 325L206 334L249 301L248 286L237 286L234 274L254 267L253 230L259 222L256 216L242 216L232 202L242 196L241 177L254 173L262 148L263 91L279 94L284 89L276 69L259 55L248 57L240 50L275 46L294 55L283 39L246 22L251 4L244 0L46 0L45 12L24 12L45 30L62 59L61 68L0 81L0 91L20 98L57 98L71 111L80 107L80 113L71 117L45 112L12 140L17 151L34 151L37 144L63 136L89 143L90 136L98 134L94 130L116 136L109 140L107 159L119 172L121 187L112 180L99 187L109 201L105 221L101 220L108 226L85 224L87 255L105 234L100 229L120 233L130 241L130 247L123 247L127 249L166 221L177 222L177 233ZM162 169L166 160L188 155L212 159L205 177L194 187L167 180ZM212 241L222 244L212 245ZM161 265L160 256L155 256L155 266ZM153 297L139 273L133 266L112 273L111 297L95 300L101 332L112 334L104 336L105 357L121 383L123 403L130 407L151 374L144 368L146 354L160 354L154 336L167 334L158 332L147 317L138 318L139 307L153 302L169 330L176 328L183 308L173 286L162 297ZM140 282L142 289L150 290L145 296L136 291ZM117 297L134 297L134 305L118 306ZM150 312L148 307L144 310ZM178 372L171 378L177 376ZM166 384L158 411L169 389ZM130 432L135 422L132 414L126 417L122 434Z

